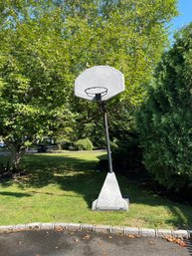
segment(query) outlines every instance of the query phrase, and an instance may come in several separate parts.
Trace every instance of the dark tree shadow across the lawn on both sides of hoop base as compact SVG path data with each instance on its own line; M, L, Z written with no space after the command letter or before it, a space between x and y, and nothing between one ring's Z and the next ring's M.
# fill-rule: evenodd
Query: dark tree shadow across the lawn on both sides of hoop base
M80 159L73 154L72 156L57 154L27 155L23 161L23 167L28 175L27 178L23 179L21 177L18 180L18 185L21 188L25 189L26 186L41 188L49 184L58 184L64 191L74 191L77 196L83 196L90 208L98 196L106 175L106 171L97 171L96 160ZM167 224L185 229L192 227L192 216L187 205L173 203L155 193L139 188L124 176L118 174L116 176L121 193L129 197L130 204L146 204L154 207L163 205L167 207L170 213L174 214L174 218L170 217ZM8 180L4 185L9 184L11 182Z

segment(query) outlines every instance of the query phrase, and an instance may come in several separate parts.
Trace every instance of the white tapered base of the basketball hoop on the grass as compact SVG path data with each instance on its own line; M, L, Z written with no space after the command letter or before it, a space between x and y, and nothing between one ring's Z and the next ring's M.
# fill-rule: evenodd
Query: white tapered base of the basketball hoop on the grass
M128 199L123 199L114 172L108 172L92 210L127 211Z

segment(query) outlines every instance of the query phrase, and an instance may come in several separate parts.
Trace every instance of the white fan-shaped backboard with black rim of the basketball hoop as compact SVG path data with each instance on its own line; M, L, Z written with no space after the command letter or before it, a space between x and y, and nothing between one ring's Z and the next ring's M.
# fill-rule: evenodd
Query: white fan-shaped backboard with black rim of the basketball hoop
M123 75L108 66L87 69L75 81L75 95L89 101L106 101L123 91Z

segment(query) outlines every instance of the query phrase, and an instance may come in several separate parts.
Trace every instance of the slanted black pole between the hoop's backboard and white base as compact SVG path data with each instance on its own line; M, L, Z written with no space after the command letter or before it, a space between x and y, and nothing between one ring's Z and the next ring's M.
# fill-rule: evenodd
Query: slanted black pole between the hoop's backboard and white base
M107 157L108 157L108 169L109 172L112 173L112 158L111 158L111 151L110 151L110 139L108 133L108 122L107 122L107 112L106 107L103 102L100 102L100 109L103 114L103 122L105 128L105 138L106 138L106 149L107 149Z

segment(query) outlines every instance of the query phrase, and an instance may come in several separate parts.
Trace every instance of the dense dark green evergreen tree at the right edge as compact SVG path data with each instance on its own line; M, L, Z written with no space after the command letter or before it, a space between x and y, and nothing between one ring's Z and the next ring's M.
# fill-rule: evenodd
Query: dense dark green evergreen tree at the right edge
M138 115L144 163L159 183L192 186L192 23L177 33Z

